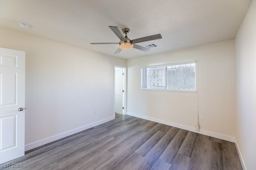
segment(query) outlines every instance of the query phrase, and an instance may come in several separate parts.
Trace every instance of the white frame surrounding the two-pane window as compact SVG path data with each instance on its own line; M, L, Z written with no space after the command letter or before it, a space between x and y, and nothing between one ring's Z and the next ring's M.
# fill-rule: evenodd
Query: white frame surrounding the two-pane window
M143 82L145 81L142 79L143 77L143 69L144 68L152 68L152 67L162 67L162 66L173 66L173 65L180 65L180 64L192 64L195 63L195 89L194 90L184 90L184 89L168 89L166 84L166 89L151 89L151 88L143 88ZM167 69L167 68L166 68ZM181 62L175 62L175 63L166 63L166 64L157 64L157 65L148 65L148 66L142 66L141 67L141 90L150 90L150 91L165 91L165 92L186 92L186 93L196 93L198 92L198 63L196 60L191 61L181 61ZM167 80L167 74L166 74L166 80ZM167 83L167 82L166 82Z

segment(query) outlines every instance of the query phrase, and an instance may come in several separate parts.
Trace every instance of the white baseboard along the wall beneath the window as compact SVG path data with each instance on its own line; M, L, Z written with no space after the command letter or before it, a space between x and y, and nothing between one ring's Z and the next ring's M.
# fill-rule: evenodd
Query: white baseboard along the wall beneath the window
M210 137L215 137L215 138L222 139L222 140L225 140L225 141L235 142L235 138L231 137L231 136L222 135L222 134L219 134L219 133L214 133L214 132L210 132L210 131L206 131L206 130L202 130L202 129L197 131L195 127L181 125L181 124L173 123L173 122L170 122L170 121L164 121L164 120L161 120L161 119L156 119L156 118L148 117L148 116L145 116L145 115L139 115L139 114L136 114L136 113L127 112L127 115L138 117L138 118L141 118L141 119L154 121L154 122L157 122L157 123L162 123L164 125L178 127L180 129L184 129L184 130L187 130L187 131L192 131L192 132L199 133L199 134L202 134L202 135L207 135L207 136L210 136Z

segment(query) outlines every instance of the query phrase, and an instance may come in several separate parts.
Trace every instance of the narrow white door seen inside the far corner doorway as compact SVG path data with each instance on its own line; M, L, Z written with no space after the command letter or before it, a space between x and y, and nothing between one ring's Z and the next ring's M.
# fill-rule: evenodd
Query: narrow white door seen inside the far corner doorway
M123 68L115 69L115 112L123 114Z

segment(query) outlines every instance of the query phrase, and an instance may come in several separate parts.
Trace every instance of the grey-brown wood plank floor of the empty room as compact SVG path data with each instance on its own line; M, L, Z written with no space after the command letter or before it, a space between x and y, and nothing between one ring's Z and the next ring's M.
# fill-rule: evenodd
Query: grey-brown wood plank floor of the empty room
M232 142L120 114L7 163L23 167L0 170L242 170Z

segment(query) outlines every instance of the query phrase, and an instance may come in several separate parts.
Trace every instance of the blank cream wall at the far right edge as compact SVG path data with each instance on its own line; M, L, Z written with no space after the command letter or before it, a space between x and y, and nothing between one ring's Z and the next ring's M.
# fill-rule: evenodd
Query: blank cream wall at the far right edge
M236 141L248 170L256 170L256 0L236 35Z

